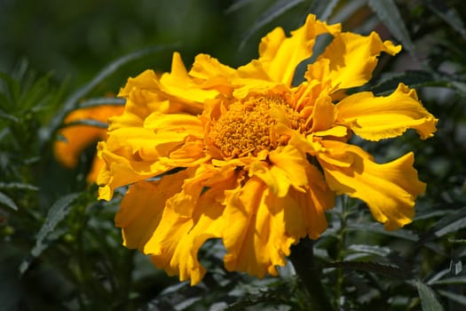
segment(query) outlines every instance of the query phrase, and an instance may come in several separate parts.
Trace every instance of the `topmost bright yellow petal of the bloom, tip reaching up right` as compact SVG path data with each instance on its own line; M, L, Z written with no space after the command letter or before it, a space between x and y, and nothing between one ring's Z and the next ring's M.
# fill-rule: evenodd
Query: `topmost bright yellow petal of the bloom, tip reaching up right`
M304 26L286 37L282 28L275 28L262 39L259 45L259 60L273 81L288 86L293 81L296 66L312 55L316 36L324 33L336 34L340 24L328 26L327 23L308 15Z

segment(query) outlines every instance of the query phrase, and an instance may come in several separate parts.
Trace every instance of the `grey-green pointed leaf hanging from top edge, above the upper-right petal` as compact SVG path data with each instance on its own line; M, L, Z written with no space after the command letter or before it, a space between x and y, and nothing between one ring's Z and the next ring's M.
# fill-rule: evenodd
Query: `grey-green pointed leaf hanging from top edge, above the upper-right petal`
M397 4L393 0L368 0L367 4L377 14L378 18L383 21L383 24L391 31L401 42L403 47L408 52L415 53L415 44L411 41L406 25L401 19Z

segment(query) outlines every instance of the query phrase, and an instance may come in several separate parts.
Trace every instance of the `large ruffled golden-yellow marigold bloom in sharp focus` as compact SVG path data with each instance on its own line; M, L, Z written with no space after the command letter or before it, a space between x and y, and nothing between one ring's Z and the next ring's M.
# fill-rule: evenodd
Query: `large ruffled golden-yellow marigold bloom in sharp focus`
M321 34L334 39L293 85ZM400 49L310 15L289 37L274 29L258 59L240 68L200 54L187 71L174 53L170 73L130 78L119 93L125 110L98 145L99 198L130 185L115 218L124 244L195 284L205 274L197 253L210 238L224 243L228 270L277 275L291 244L325 231L336 194L366 202L387 229L409 223L425 190L413 154L379 164L348 140L407 129L426 139L437 120L404 84L385 97L344 95L367 83L381 52Z

